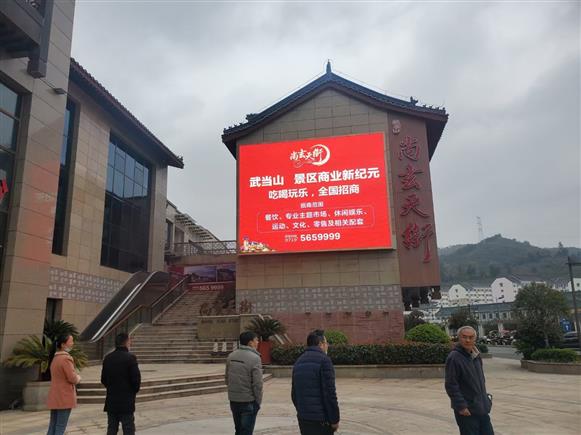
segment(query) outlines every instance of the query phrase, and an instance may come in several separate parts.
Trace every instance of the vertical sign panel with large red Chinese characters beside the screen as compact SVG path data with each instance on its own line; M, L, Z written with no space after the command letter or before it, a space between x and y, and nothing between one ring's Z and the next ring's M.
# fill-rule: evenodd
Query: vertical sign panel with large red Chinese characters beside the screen
M425 124L391 118L390 149L401 285L439 286Z

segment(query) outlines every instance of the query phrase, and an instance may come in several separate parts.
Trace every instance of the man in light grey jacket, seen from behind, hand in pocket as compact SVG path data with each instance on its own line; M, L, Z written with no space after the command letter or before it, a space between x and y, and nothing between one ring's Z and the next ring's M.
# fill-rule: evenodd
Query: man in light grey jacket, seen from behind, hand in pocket
M262 402L262 363L257 348L258 336L243 332L240 348L226 360L226 385L235 435L252 435Z

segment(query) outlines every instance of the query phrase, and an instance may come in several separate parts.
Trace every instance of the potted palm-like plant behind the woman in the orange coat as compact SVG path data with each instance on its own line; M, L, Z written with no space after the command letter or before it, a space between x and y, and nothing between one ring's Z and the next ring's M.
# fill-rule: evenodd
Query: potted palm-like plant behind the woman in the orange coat
M62 320L45 322L42 339L30 335L20 340L12 351L12 355L4 361L5 367L37 367L37 379L27 382L22 391L25 411L41 411L46 409L46 398L50 387L50 357L53 341L59 335L71 334L76 338L77 329ZM50 335L49 335L50 334ZM87 366L87 355L76 345L69 352L75 362L75 367L81 369Z

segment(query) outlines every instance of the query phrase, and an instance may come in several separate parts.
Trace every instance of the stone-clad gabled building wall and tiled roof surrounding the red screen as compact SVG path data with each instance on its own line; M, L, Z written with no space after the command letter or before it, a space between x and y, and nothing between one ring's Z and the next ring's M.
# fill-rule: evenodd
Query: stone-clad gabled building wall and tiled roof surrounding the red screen
M345 85L343 85L345 84ZM351 88L353 85L355 88ZM354 92L356 89L357 92ZM430 112L415 102L401 107L370 101L360 95L364 89L331 73L305 86L295 94L260 114L250 115L248 122L224 131L223 141L234 156L247 144L292 141L296 139L333 137L381 132L385 137L388 173L388 196L393 249L366 251L310 252L299 254L240 255L237 262L237 304L250 302L252 311L271 314L288 326L291 338L304 340L304 334L315 327L350 331L354 342L381 342L403 337L403 295L412 291L439 286L435 236L431 240L433 263L423 263L422 250L406 252L402 265L400 252L403 228L396 216L396 191L399 173L394 171L392 150L399 148L392 122L401 119L403 129L421 127L420 139L425 147L425 164L439 140L447 115L441 109ZM373 91L369 91L373 93ZM434 133L424 116L434 117L441 130ZM431 129L431 130L430 130ZM355 152L355 151L354 151ZM429 172L426 174L429 180ZM431 187L422 192L426 206L432 210ZM431 216L433 222L433 213ZM411 264L411 262L415 262ZM419 278L401 276L404 267ZM435 271L435 272L434 272ZM408 275L410 272L408 272ZM411 284L409 284L411 283ZM375 324L371 329L362 325ZM370 333L369 331L375 331ZM349 335L349 334L348 334Z

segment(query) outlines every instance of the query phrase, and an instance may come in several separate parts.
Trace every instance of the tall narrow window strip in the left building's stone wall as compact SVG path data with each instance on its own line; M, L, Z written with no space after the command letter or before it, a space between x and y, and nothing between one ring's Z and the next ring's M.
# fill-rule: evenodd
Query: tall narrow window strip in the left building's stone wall
M67 100L65 111L65 123L63 128L63 141L61 145L61 165L59 170L59 184L56 199L56 212L52 234L53 254L63 255L65 251L65 222L67 216L67 204L69 193L69 178L71 172L71 153L74 136L75 104Z

